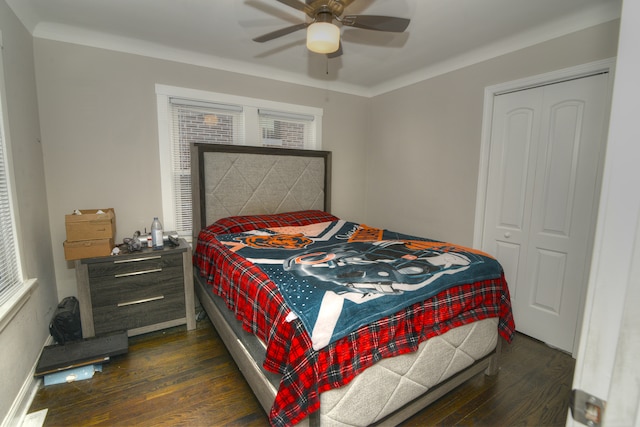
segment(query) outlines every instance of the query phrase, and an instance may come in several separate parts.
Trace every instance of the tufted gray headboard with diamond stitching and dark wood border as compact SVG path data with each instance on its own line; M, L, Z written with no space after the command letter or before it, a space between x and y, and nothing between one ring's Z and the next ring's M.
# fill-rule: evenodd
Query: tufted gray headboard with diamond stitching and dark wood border
M193 233L220 218L330 210L331 152L191 146Z

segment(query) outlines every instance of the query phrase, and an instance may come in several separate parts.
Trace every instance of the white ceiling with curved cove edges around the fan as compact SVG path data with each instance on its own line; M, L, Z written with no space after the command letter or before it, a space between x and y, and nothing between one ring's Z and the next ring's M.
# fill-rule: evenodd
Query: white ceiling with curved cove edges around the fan
M342 28L344 55L306 50L276 0L6 0L34 37L373 96L620 16L621 0L356 0L348 14L411 19L405 33Z

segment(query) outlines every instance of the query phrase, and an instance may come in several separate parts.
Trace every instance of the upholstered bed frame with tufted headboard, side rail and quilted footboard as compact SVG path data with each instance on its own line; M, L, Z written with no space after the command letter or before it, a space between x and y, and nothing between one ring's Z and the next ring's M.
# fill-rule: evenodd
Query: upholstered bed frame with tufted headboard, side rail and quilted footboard
M191 176L194 242L202 226L226 216L273 214L305 209L329 211L330 209L331 153L327 151L194 144L191 149ZM268 196L265 197L265 194ZM202 307L268 414L275 400L280 377L262 368L262 361L266 354L264 343L242 329L240 322L234 318L222 299L211 293L210 286L203 283L204 280L197 271L194 271L194 282L195 292ZM447 372L446 375L436 373L436 376L443 375L448 378L429 386L428 390L419 397L411 395L402 400L402 396L394 396L396 400L400 399L399 403L394 402L393 409L389 409L392 412L377 419L377 424L398 424L483 371L487 375L498 372L501 340L498 339L497 319L485 319L472 325L476 326L465 326L468 327L467 329L476 327L484 329L476 333L479 335L478 342L488 341L486 349L478 350L480 352L475 362L469 362L470 366L463 367L455 373ZM327 420L345 425L342 424L344 421L341 415L335 413L339 412L340 408L350 412L357 408L369 411L367 405L380 403L371 402L372 396L362 399L366 402L358 403L359 393L346 390L352 385L357 387L357 384L354 385L356 380L362 380L361 386L365 393L365 388L371 389L371 383L379 383L380 376L384 375L374 371L374 368L378 368L377 365L380 365L379 369L385 369L386 364L391 366L397 358L419 358L422 355L432 358L429 351L439 352L442 348L448 349L448 346L462 345L461 342L466 340L464 338L466 335L463 337L460 334L471 333L464 328L455 328L440 337L423 342L416 354L384 359L358 375L349 385L323 393L320 411L311 414L303 420L301 425L319 425ZM439 339L444 340L444 343ZM455 352L458 352L458 348ZM463 356L460 357L463 359L467 357L466 352L466 349L462 349ZM463 360L453 364L460 363L466 362ZM446 364L451 365L449 361ZM428 371L427 369L426 373L420 375L431 375ZM402 395L403 393L394 392L394 394ZM347 401L345 396L350 396L353 402L340 406L341 400Z

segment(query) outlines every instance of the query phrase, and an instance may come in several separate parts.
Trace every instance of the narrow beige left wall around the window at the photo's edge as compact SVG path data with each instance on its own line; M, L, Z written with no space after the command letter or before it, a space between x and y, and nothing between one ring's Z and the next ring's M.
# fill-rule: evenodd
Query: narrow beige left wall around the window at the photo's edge
M27 278L37 287L26 303L0 328L0 422L7 419L49 336L48 324L58 302L44 184L42 147L33 62L33 40L4 0L0 0L0 32L10 143L16 187L18 241ZM4 307L3 307L4 308Z

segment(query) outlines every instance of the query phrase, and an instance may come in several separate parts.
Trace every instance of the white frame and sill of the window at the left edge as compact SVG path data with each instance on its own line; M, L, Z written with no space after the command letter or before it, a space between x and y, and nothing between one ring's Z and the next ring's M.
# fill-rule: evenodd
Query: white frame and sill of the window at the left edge
M7 202L9 205L10 225L4 230L4 233L10 235L3 235L3 239L10 241L9 245L13 246L9 248L9 252L13 252L9 263L15 263L9 268L13 269L14 274L11 277L13 284L10 288L6 289L2 295L0 295L0 331L8 324L12 315L20 308L20 306L26 301L26 298L30 294L33 287L32 284L25 282L23 269L22 269L22 257L20 255L20 244L18 241L18 215L16 212L18 202L16 199L16 189L14 184L13 165L11 159L11 142L9 133L9 116L7 109L6 98L6 86L4 80L4 62L2 58L2 32L0 32L0 144L2 144L2 158L3 162L5 182L7 186ZM3 259L4 265L7 260ZM33 282L33 281L31 281ZM28 286L27 286L28 285Z

